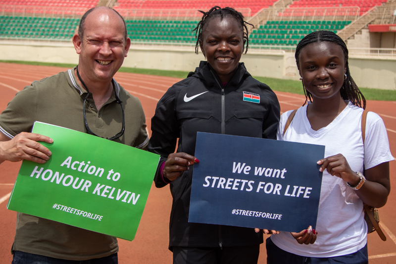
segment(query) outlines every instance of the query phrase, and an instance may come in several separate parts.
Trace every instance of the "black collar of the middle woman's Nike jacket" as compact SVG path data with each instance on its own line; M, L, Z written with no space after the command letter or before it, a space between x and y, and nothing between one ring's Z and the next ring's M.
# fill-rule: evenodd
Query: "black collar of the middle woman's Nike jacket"
M221 88L219 87L219 85L222 85L219 76L217 76L216 72L207 61L201 61L199 63L199 67L196 68L195 72L189 73L188 77L191 76L201 79L204 83L208 85L208 87L213 87L217 89ZM245 64L243 62L240 62L238 64L237 71L228 81L226 85L226 90L235 90L238 84L248 76L250 76L250 73L247 72Z

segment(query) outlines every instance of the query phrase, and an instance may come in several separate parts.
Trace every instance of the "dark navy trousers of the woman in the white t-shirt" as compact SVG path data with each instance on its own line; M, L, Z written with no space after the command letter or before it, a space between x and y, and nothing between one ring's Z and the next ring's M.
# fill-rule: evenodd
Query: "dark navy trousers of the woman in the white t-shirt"
M302 257L278 248L271 238L266 240L267 264L368 264L367 244L355 253L333 258Z

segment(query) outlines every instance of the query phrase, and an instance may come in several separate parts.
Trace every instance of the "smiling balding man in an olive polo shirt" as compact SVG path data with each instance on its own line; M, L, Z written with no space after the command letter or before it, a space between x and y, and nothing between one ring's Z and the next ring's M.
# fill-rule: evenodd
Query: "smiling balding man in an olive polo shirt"
M131 44L123 18L108 7L90 9L81 18L73 44L80 54L76 67L34 81L1 113L0 163L23 159L45 163L49 159L50 151L39 142L53 141L29 133L35 121L146 148L142 105L113 79ZM17 213L13 264L88 260L91 264L116 264L117 252L114 237Z

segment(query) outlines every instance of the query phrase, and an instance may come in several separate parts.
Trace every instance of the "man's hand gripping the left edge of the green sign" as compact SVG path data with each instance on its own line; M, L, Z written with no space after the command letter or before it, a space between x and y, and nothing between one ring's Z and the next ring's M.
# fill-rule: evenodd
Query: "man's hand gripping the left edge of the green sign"
M0 163L4 160L15 162L23 159L46 163L51 152L38 141L53 142L51 138L36 133L22 132L12 139L0 133Z

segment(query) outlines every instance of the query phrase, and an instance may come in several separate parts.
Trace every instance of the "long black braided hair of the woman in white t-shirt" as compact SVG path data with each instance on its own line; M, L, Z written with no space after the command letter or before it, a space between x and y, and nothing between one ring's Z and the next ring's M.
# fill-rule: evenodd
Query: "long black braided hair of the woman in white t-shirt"
M362 102L363 102L362 108L365 109L366 108L366 99L364 98L363 94L360 92L355 81L350 76L349 66L348 66L347 45L337 34L333 33L332 31L324 31L324 30L314 31L314 32L306 35L298 43L297 48L296 48L296 54L295 54L298 69L299 69L299 64L298 64L299 55L300 55L302 48L304 48L308 44L315 43L315 42L322 42L322 41L328 41L328 42L335 43L335 44L341 46L341 48L343 49L344 56L345 56L345 63L347 66L347 73L346 73L347 78L345 78L343 87L341 87L341 90L340 90L341 97L344 100L349 100L353 105L359 106L359 107L362 107ZM305 90L304 83L302 83L302 88L304 89L304 95L305 95L304 105L305 105L308 100L310 102L312 102L312 95L308 91Z

